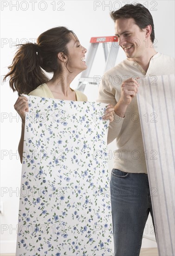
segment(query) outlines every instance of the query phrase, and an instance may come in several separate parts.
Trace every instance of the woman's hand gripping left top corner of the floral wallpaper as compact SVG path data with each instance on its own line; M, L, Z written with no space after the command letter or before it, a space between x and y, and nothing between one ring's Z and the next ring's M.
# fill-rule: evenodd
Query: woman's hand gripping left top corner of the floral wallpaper
M25 122L26 112L29 112L28 99L25 96L19 96L14 103L14 109L18 112L23 122Z

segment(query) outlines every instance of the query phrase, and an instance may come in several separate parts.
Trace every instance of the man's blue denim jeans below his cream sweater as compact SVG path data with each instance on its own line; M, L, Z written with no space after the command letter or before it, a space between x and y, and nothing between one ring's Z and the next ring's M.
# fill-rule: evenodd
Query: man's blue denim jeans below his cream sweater
M112 169L110 195L115 256L139 256L149 212L148 175Z

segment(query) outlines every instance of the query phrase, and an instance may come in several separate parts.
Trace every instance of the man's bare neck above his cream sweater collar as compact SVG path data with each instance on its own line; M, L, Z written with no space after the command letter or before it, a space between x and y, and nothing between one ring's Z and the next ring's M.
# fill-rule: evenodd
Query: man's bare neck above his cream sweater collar
M145 72L147 72L148 68L149 68L149 61L151 60L151 58L157 54L157 52L152 49L151 51L149 51L148 53L144 54L142 57L136 57L136 58L128 58L129 61L136 61Z

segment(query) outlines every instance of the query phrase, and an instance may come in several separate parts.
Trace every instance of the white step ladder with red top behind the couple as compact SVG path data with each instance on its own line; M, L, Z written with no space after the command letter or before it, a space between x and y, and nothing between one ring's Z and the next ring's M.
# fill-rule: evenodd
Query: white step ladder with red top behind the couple
M91 67L97 53L97 48L100 43L103 44L104 48L104 57L105 57L105 67L104 72L101 74L103 75L107 70L114 67L117 54L118 54L118 38L117 36L104 36L104 37L91 37L90 40L91 46L88 50L87 57L86 57L86 65L87 69L84 70L81 74L79 79L77 90L84 92L84 88L87 84L96 84L98 85L98 81L94 81L94 77L89 77ZM108 50L109 45L109 50Z

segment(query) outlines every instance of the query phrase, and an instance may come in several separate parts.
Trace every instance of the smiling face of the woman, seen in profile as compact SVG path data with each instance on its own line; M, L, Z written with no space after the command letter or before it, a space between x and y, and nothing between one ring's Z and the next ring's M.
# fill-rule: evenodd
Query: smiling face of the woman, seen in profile
M67 68L70 72L80 73L87 68L85 63L85 53L87 49L84 48L78 38L71 34L71 41L67 44L69 60Z

